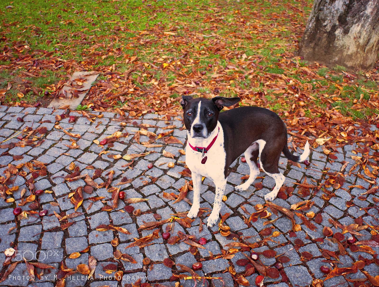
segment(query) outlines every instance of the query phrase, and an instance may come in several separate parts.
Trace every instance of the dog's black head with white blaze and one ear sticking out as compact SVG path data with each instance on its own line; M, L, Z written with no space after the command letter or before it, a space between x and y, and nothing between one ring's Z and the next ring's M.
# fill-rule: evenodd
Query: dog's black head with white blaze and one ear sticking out
M205 98L192 98L182 96L183 120L192 138L204 138L210 136L217 126L218 115L222 108L238 103L240 98L214 97L211 100Z

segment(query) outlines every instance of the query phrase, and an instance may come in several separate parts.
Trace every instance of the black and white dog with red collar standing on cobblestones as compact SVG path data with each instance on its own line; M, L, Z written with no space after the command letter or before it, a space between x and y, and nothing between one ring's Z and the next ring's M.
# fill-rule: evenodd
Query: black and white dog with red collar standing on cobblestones
M287 147L287 128L274 112L260 107L244 106L220 113L224 106L232 106L240 98L214 97L192 98L182 96L183 120L187 128L186 165L192 172L194 196L188 217L197 216L200 207L200 186L202 176L210 178L216 185L213 211L207 226L216 224L224 195L227 171L242 153L250 167L250 177L236 186L238 191L246 190L259 174L260 167L275 179L273 191L265 195L274 200L285 177L278 170L280 153L294 162L302 162L309 156L309 143L301 156L294 156Z

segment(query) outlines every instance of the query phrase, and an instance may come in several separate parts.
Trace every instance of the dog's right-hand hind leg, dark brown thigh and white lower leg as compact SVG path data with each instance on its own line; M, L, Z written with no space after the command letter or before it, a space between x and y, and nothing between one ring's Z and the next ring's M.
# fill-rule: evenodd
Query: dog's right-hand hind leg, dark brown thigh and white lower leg
M259 141L259 161L263 171L275 179L274 189L265 195L265 200L273 201L282 187L285 176L279 172L278 164L281 150L276 146L280 146L279 142L266 143L264 140ZM276 152L279 151L279 152Z

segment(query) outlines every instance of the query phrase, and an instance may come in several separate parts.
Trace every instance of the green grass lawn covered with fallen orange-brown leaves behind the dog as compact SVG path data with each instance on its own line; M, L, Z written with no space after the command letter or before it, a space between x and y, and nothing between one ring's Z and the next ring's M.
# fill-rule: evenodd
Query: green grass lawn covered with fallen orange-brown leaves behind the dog
M377 70L296 57L313 1L25 0L0 7L0 96L47 105L66 75L101 72L81 109L177 112L182 94L283 117L377 113ZM8 6L9 5L9 6ZM9 89L8 89L9 88ZM121 94L121 96L112 97Z

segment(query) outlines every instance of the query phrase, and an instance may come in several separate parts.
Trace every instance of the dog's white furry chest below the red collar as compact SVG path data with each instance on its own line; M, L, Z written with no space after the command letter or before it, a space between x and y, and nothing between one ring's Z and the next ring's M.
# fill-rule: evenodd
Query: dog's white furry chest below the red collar
M222 131L220 131L215 143L212 145L210 150L204 154L207 160L204 162L202 153L194 151L188 144L186 146L186 165L191 172L199 173L202 176L212 179L213 181L218 180L218 178L224 177L224 168L226 161L226 153L224 149L224 136Z

